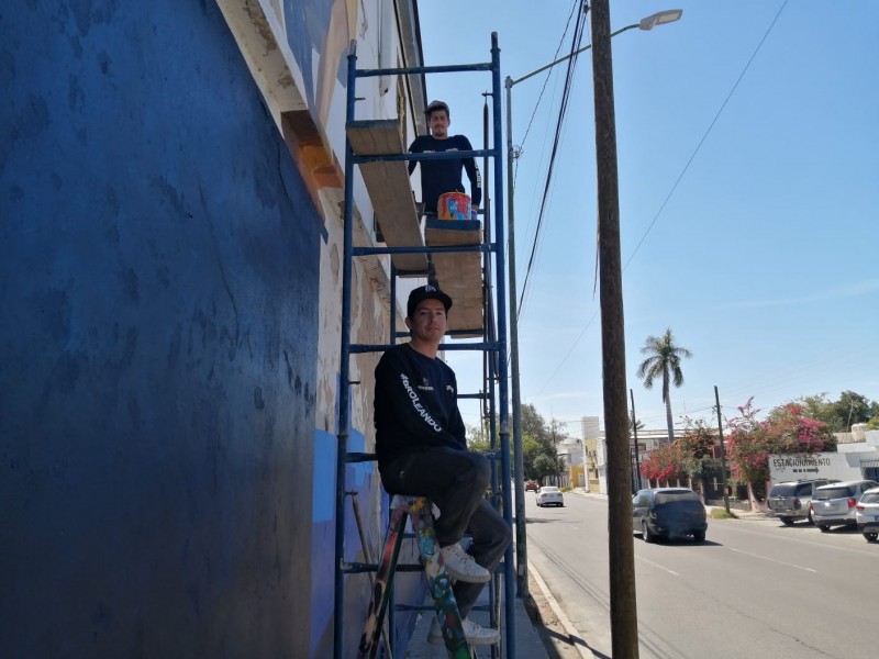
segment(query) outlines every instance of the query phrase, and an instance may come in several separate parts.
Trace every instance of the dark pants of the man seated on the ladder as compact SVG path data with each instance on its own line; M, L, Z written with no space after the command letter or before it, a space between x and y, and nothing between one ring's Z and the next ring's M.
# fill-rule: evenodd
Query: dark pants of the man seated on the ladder
M454 545L467 533L468 552L480 566L494 571L512 540L503 517L485 499L490 462L479 454L453 448L431 448L398 458L381 470L391 494L427 496L439 509L434 525L441 547ZM466 616L482 591L482 583L456 581L455 600Z

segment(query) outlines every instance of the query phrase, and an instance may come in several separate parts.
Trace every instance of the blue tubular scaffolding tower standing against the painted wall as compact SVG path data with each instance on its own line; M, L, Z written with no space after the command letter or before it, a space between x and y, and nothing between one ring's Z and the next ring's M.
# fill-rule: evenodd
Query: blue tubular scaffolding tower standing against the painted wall
M488 194L486 190L487 203L483 204L482 220L485 223L485 232L477 233L481 235L479 241L475 244L458 244L453 241L453 244L437 245L430 241L424 241L419 237L418 241L409 239L398 233L390 233L381 226L382 237L387 246L383 247L354 247L354 172L355 167L363 167L364 165L375 163L397 163L404 160L423 160L430 158L449 157L449 154L405 154L403 153L366 153L368 147L363 145L355 148L352 142L352 135L355 127L364 127L365 130L398 130L399 125L396 120L391 120L391 125L388 126L388 121L364 122L357 121L356 118L356 83L360 78L389 76L389 75L426 75L426 74L447 74L447 72L472 72L483 71L491 75L491 94L487 94L490 99L491 119L490 119L490 136L486 136L486 148L475 149L472 152L454 152L454 157L480 157L485 158L487 171L486 179L489 175L493 174L491 180L493 181L493 196ZM504 238L504 212L503 212L503 139L502 139L502 122L501 122L501 100L502 100L502 86L500 76L500 48L498 46L497 33L491 35L491 60L488 63L468 64L468 65L450 65L450 66L420 66L410 68L396 68L396 69L357 69L357 53L356 42L352 42L348 55L348 75L347 75L347 108L346 108L346 142L345 142L345 205L344 205L344 242L343 242L343 279L342 279L342 346L341 346L341 362L340 362L340 387L338 387L338 435L337 435L337 456L336 456L336 500L335 500L335 580L334 580L334 657L336 659L347 659L353 656L353 648L346 652L344 648L345 640L345 626L344 621L344 597L345 597L345 582L346 576L355 572L363 572L369 567L360 563L352 563L345 560L345 498L346 489L346 471L347 466L352 462L363 462L375 460L374 454L354 454L348 451L348 437L351 432L351 396L352 386L356 384L351 381L351 358L355 354L382 351L393 345L400 336L397 332L397 278L398 277L424 277L424 278L438 278L441 287L443 287L443 278L452 276L452 272L444 272L443 266L437 265L442 263L445 257L445 263L454 263L457 258L455 255L477 255L481 259L481 267L478 268L478 280L472 282L464 281L463 284L469 287L478 287L477 291L482 294L482 309L480 311L481 322L479 326L460 327L449 332L449 338L470 337L479 338L470 343L444 343L443 350L478 350L485 355L483 359L483 378L485 386L479 393L461 394L459 398L479 398L483 401L483 410L489 420L489 432L491 436L491 456L493 458L494 469L492 470L491 492L493 503L502 510L504 520L512 527L513 501L511 491L511 465L510 465L510 399L509 399L509 377L508 377L508 306L507 306L507 282L504 273L507 272L505 263L505 238ZM489 121L487 120L487 129ZM367 141L368 142L368 141ZM403 163L404 166L404 163ZM488 170L490 166L490 171ZM407 175L408 180L408 175ZM487 186L488 187L488 186ZM374 199L376 205L376 198L370 190L369 182L367 181L367 190ZM411 193L410 193L411 198ZM411 201L411 199L409 200ZM413 209L414 210L414 209ZM418 226L418 217L414 217ZM443 230L450 228L449 225L455 224L456 221L438 221L445 223ZM379 220L381 225L381 220ZM467 223L461 223L461 225ZM479 222L476 221L479 225ZM431 225L431 222L427 222ZM479 228L479 226L478 226ZM425 226L424 233L431 231ZM390 234L390 235L389 235ZM419 235L421 232L419 231ZM411 243L411 244L409 244ZM430 243L430 244L427 244ZM352 327L352 272L353 259L367 255L390 255L390 328L389 340L382 345L364 345L353 344L351 340ZM419 256L422 255L422 256ZM450 260L448 257L452 257ZM471 260L469 263L472 263ZM437 269L439 271L437 271ZM446 270L449 268L446 266ZM461 269L464 271L464 269ZM469 288L468 288L469 290ZM453 295L454 299L454 295ZM499 625L499 611L500 603L503 603L504 610L504 625L502 632L502 644L505 657L515 657L515 628L514 628L514 597L515 597L515 569L513 562L513 547L507 549L504 560L499 566L496 574L490 584L490 613L491 623L493 626ZM501 596L502 589L502 596ZM401 607L402 608L402 607ZM393 606L389 612L389 622L392 626ZM352 621L352 625L359 625L363 621ZM391 634L393 638L393 634ZM393 643L393 640L391 640ZM396 648L390 648L393 652ZM492 657L498 656L499 649L492 646Z

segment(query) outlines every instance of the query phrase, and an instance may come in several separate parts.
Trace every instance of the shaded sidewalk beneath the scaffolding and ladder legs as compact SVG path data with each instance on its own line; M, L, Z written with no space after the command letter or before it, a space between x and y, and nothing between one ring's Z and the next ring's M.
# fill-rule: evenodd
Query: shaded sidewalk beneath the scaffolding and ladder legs
M503 589L501 589L501 596L503 596ZM431 604L431 599L425 600L425 604ZM482 591L482 594L477 602L477 606L488 606L488 587ZM503 615L504 606L501 604L501 615ZM409 640L408 651L405 659L447 659L448 655L444 646L431 645L427 643L427 632L431 628L431 618L433 614L425 611L419 618L415 625L415 630L412 633L412 638ZM474 622L480 625L488 626L489 615L488 611L475 611L470 614ZM546 648L543 646L537 630L531 623L525 604L520 599L515 599L515 654L505 652L503 650L504 643L504 627L501 626L501 657L505 659L548 659ZM478 646L476 648L478 657L490 657L491 646ZM505 654L504 654L505 652ZM400 658L394 658L400 659Z

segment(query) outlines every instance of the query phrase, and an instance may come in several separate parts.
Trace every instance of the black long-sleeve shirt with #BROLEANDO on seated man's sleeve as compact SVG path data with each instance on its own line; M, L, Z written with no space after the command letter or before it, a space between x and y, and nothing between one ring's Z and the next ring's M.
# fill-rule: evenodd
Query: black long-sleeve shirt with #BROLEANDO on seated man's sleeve
M376 367L376 453L382 469L401 455L436 446L465 450L455 371L409 344L388 349Z

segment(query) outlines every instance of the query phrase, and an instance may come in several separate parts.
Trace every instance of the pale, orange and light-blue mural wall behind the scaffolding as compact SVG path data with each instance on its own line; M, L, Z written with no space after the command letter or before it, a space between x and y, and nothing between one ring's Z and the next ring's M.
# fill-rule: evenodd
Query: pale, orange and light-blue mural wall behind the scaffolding
M223 0L223 4L235 4ZM311 505L310 565L310 637L309 648L314 657L332 654L334 608L334 552L335 545L335 478L337 449L336 410L338 398L340 344L341 344L341 247L343 199L343 172L338 158L343 157L345 144L345 107L347 82L348 45L358 40L360 67L377 65L378 53L383 47L389 60L393 60L397 44L392 43L398 30L394 24L379 25L381 20L393 21L392 3L379 0L270 0L258 5L226 8L230 24L243 49L251 55L252 74L258 78L270 111L280 116L279 127L285 142L293 154L296 165L305 181L309 193L324 221L321 234L321 263L319 277L319 345L316 360L316 414L311 446L313 447L313 480ZM381 11L383 10L383 11ZM258 12L269 12L262 14ZM367 20L367 15L370 20ZM376 20L371 20L372 16ZM270 34L266 33L270 30ZM379 44L385 34L387 43ZM252 42L248 40L253 40ZM262 46L262 47L260 47ZM264 53L274 53L271 67L260 59ZM282 63L280 62L282 59ZM272 71L278 75L269 75ZM279 72L280 71L280 72ZM281 90L272 86L291 85ZM376 97L374 102L360 104L360 111L375 112L381 101L396 103L392 97L379 99L376 86L364 86L361 96ZM396 111L397 108L394 107ZM380 111L380 110L379 110ZM371 215L366 190L356 177L355 222L363 232L357 239L371 241L369 227L364 227L363 216ZM365 230L365 231L364 231ZM388 340L389 310L387 267L378 258L369 265L359 259L354 264L352 333L356 343L378 344ZM371 451L371 391L372 368L377 356L355 358L351 379L360 382L353 392L351 410L351 436L348 450ZM386 518L387 498L380 487L375 463L347 466L345 489L357 492L366 544L376 550L380 545ZM363 561L364 543L360 540L351 507L351 498L345 502L345 559ZM399 581L401 592L418 593L423 579L419 574L405 576ZM411 585L409 582L412 582ZM366 574L349 576L345 585L345 634L352 634L356 643L357 626L363 621L369 597ZM415 594L418 597L418 594ZM399 616L403 625L409 615ZM346 647L352 641L346 640Z

